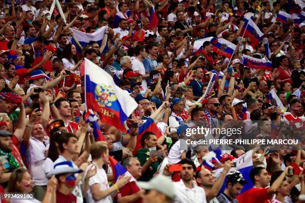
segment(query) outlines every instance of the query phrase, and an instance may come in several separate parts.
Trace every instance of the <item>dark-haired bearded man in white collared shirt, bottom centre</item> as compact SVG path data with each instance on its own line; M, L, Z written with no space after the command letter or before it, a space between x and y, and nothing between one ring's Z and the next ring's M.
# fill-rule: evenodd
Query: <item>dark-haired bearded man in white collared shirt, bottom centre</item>
M190 159L182 159L180 164L181 180L174 183L176 191L175 203L206 203L206 195L203 188L193 183L193 177L196 172L195 164Z

